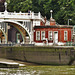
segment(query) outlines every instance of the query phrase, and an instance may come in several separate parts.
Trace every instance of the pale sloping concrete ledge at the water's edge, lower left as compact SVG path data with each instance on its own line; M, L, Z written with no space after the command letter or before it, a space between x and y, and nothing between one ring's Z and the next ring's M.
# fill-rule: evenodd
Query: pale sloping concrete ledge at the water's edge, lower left
M0 68L3 65L6 65L8 68L18 68L18 67L24 67L27 65L37 65L37 64L0 58Z

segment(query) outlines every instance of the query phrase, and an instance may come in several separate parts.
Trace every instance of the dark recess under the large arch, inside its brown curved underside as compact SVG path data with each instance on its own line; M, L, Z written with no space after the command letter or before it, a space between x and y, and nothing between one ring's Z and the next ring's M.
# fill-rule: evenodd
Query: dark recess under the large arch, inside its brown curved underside
M21 32L13 25L8 23L8 43L22 43L23 38Z

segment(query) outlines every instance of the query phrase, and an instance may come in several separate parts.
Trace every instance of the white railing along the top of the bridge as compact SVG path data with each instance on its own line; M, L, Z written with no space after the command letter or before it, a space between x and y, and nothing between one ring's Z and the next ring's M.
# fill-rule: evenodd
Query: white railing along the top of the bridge
M41 19L41 15L40 12L39 13L0 12L0 18Z

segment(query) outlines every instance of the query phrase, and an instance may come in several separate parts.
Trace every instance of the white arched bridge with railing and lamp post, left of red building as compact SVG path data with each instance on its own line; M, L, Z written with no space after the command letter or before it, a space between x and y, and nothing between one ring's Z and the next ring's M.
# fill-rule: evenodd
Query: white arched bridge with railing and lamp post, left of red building
M8 12L5 2L5 11L0 12L0 44L33 44L33 27L40 25L41 20L40 12Z

